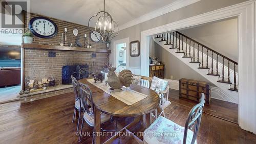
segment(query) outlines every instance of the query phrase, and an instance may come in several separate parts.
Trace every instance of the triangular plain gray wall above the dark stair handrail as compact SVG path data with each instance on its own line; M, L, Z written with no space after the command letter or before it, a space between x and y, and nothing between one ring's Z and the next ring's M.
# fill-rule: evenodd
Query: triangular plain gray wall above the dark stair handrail
M238 61L238 19L228 19L179 31L228 58Z

